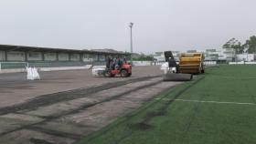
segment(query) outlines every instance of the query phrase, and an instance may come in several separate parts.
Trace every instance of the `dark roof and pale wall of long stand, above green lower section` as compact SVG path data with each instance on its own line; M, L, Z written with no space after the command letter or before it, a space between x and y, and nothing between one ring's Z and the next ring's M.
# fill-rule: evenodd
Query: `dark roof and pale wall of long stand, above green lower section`
M130 57L120 51L78 50L0 45L0 62L103 62L106 57Z

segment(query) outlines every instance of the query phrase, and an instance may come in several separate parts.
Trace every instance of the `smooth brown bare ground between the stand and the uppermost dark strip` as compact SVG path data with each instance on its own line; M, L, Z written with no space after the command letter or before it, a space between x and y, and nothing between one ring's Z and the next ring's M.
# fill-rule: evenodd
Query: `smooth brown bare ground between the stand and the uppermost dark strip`
M92 77L91 70L40 72L42 80L28 81L26 73L0 75L0 108L23 103L37 96L109 82L161 74L159 67L133 67L132 77Z

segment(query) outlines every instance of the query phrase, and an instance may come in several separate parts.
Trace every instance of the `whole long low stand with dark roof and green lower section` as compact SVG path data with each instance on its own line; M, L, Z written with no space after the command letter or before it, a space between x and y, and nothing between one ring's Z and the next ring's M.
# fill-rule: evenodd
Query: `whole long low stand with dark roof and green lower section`
M0 69L31 67L80 67L104 65L106 57L125 57L130 53L112 49L78 50L36 46L0 45Z

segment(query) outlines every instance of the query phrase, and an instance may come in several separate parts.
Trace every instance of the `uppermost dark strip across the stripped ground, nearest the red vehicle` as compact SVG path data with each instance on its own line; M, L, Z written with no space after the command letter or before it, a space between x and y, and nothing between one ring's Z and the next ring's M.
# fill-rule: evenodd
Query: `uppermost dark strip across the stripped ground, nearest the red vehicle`
M160 77L160 76L155 76L155 77ZM5 115L7 113L13 113L16 111L24 110L24 109L32 110L38 107L48 106L58 102L69 101L76 98L85 98L91 94L100 92L102 90L107 90L114 87L122 87L123 85L126 85L126 84L144 81L144 80L148 80L155 77L139 77L139 78L134 78L129 80L106 83L96 87L94 86L94 87L77 88L77 89L61 91L53 94L41 95L41 96L38 96L37 98L32 98L27 102L24 102L21 104L0 108L0 116Z

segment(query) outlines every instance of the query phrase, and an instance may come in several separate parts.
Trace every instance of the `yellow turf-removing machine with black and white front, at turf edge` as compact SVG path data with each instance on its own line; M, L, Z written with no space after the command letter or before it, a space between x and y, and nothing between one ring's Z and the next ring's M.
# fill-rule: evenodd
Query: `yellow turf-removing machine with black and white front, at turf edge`
M200 53L181 54L177 64L171 51L165 51L165 64L161 69L165 71L165 81L189 81L192 74L204 73L204 57Z

